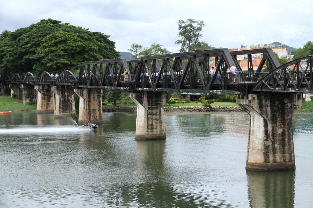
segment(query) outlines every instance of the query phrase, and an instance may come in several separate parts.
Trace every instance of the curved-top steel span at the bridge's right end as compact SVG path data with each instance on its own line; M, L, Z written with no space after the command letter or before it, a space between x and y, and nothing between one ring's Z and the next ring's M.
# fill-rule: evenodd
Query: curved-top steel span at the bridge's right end
M313 56L285 63L260 79L251 91L312 92L312 65Z

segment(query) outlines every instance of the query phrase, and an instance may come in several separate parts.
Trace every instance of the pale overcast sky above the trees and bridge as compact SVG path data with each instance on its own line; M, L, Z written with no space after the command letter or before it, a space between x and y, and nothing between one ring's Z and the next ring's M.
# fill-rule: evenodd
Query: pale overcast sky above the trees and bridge
M203 20L203 41L213 47L281 42L299 48L313 41L313 1L2 0L0 32L52 18L110 35L117 51L132 43L180 46L178 20Z

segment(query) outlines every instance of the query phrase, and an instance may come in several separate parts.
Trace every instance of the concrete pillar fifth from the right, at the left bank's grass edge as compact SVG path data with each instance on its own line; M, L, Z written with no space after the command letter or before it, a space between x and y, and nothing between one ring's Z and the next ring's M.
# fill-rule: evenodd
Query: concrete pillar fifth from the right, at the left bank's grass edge
M37 91L37 113L52 113L54 111L54 94L51 85L35 85Z

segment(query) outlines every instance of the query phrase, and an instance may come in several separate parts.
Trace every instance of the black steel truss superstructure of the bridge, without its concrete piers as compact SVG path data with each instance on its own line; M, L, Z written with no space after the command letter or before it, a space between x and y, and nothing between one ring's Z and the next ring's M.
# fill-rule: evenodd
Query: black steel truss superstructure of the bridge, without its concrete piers
M263 54L254 69L252 54ZM237 55L247 55L248 71L242 71ZM5 75L2 83L71 85L75 88L126 89L129 92L197 92L241 94L246 98L258 92L312 92L313 56L303 57L284 65L279 64L270 48L229 52L227 48L173 53L125 59L83 62L79 75L62 71L54 80L48 72L39 77L28 72ZM215 63L215 73L210 65ZM237 67L235 80L227 69ZM128 75L123 75L125 70ZM265 70L266 72L261 72Z

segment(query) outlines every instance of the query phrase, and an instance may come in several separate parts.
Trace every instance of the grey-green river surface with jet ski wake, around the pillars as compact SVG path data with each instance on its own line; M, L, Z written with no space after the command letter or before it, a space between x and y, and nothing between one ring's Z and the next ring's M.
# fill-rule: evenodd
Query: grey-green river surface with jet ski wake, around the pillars
M0 115L0 207L313 207L313 115L293 116L295 171L245 170L249 115L166 113L165 141L136 114Z

